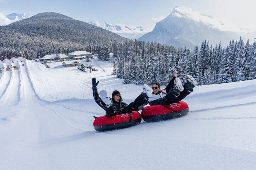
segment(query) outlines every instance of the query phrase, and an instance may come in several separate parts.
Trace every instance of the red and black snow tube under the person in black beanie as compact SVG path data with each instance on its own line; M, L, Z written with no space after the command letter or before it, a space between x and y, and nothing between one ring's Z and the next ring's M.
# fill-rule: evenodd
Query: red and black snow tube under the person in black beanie
M138 125L141 115L137 111L116 116L100 116L93 122L96 131L111 131Z

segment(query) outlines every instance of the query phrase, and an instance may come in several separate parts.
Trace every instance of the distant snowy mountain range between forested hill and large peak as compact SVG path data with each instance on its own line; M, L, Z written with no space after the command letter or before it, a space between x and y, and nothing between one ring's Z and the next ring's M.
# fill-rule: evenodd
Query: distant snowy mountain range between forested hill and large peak
M117 33L118 35L129 38L129 39L138 39L145 33L152 30L148 28L143 28L142 26L135 27L135 26L127 26L125 24L107 24L107 23L102 24L97 21L96 22L90 21L87 23L109 30L111 32Z

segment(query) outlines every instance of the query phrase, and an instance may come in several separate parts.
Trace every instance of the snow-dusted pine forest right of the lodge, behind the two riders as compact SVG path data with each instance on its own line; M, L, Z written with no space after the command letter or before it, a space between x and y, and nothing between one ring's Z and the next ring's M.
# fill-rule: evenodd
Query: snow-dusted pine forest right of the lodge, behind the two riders
M200 85L256 79L256 42L245 44L242 37L225 48L221 42L213 47L206 40L194 50L138 40L114 43L112 48L116 75L124 83L166 85L174 70L181 79L185 74L194 76Z

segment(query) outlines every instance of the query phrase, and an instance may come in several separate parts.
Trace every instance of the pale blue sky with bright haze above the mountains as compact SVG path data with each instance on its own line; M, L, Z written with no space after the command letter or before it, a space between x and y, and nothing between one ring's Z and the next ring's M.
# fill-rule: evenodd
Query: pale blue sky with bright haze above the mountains
M256 22L248 17L255 15L253 0L0 0L0 14L57 12L82 21L153 28L175 6L225 18L241 28L256 28Z

